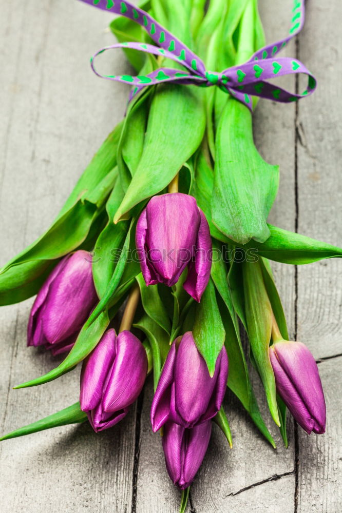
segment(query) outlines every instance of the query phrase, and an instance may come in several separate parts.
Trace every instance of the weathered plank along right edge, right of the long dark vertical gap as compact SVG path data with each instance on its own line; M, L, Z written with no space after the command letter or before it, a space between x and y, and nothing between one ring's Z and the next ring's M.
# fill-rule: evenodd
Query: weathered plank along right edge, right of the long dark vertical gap
M331 7L331 6L330 6ZM342 230L336 210L342 198L340 179L340 92L342 41L337 20L341 5L333 9L319 2L308 5L307 23L299 38L299 58L318 79L308 101L298 104L297 169L298 231L335 245ZM318 63L324 63L321 66ZM300 89L303 87L299 84ZM342 273L339 260L298 267L298 339L316 358L341 353ZM319 364L327 400L324 436L299 435L297 511L331 511L342 508L340 465L340 358Z

